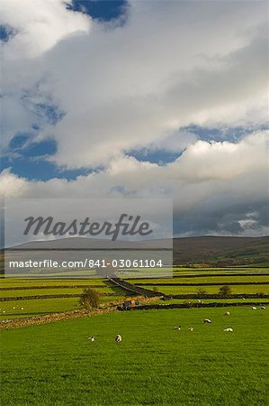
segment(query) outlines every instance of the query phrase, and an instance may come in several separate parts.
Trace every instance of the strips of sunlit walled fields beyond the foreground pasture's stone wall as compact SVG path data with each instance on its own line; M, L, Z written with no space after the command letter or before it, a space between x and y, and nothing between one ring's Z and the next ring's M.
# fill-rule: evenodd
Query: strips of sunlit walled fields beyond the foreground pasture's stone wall
M236 295L269 294L268 269L264 268L242 270L241 268L198 269L175 267L173 272L174 278L169 279L133 279L132 276L132 279L129 278L127 281L149 291L156 289L166 295L193 295L193 298L197 296L198 291L216 295L222 284L229 284L232 293ZM1 298L3 300L0 302L0 318L41 316L58 311L79 309L79 295L86 286L93 287L95 291L101 294L103 304L115 300L124 300L127 295L126 291L113 286L110 281L102 278L76 280L5 278L0 282ZM33 299L35 297L36 299ZM205 301L209 302L209 300ZM259 298L257 297L256 300L259 300ZM263 298L261 300L263 301ZM181 298L178 302L183 303L184 299Z

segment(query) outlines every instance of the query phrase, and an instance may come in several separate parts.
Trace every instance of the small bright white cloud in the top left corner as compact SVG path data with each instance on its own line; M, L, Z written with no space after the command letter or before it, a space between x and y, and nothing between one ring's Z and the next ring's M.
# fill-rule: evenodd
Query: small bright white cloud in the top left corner
M68 35L89 32L90 18L67 10L70 0L1 0L0 23L16 34L2 45L4 59L34 58Z

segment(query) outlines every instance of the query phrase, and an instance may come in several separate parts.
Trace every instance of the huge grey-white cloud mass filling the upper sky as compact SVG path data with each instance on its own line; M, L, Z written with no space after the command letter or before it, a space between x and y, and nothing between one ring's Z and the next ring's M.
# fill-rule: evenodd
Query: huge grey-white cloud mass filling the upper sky
M4 94L18 100L27 90L18 110L29 127L36 100L66 113L55 126L40 122L39 136L58 143L50 158L58 165L108 164L130 149L171 143L175 133L181 149L184 125L265 123L264 2L130 1L127 23L107 26L67 11L61 0L36 1L40 7L18 1L25 9L17 17L10 0L2 2L3 21L27 33L25 47L20 34L4 44ZM4 133L8 143L8 125Z

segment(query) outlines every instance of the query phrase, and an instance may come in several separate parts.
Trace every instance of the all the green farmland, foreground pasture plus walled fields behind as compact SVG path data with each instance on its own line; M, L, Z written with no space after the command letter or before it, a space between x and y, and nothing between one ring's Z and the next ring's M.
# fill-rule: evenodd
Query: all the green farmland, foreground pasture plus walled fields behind
M12 319L21 323L24 318L46 317L46 321L0 332L1 404L268 404L268 311L261 309L269 302L268 268L175 267L173 273L174 278L134 279L132 272L125 272L134 287L170 295L154 299L150 309L76 319L68 315L80 309L79 296L86 286L101 294L103 309L122 302L130 291L100 277L2 279L3 328ZM219 297L222 285L229 285L237 299ZM218 301L225 309L194 308L202 291L206 292L202 306ZM242 306L233 307L235 302ZM250 303L255 303L256 311ZM155 304L162 309L153 309ZM169 305L189 309L166 309ZM67 318L55 321L55 313ZM211 318L212 324L204 325L203 318ZM178 325L181 331L173 329ZM114 342L116 334L123 337L121 345ZM87 340L92 335L93 343Z

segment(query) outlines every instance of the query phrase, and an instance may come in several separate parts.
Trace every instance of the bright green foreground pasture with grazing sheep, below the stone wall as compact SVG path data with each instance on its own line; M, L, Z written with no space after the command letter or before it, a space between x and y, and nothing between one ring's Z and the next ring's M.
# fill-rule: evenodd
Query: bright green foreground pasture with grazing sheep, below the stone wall
M267 405L268 313L231 312L119 312L3 331L1 404ZM178 324L180 332L173 330Z

